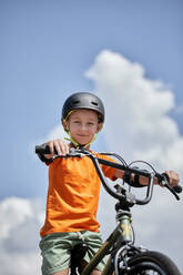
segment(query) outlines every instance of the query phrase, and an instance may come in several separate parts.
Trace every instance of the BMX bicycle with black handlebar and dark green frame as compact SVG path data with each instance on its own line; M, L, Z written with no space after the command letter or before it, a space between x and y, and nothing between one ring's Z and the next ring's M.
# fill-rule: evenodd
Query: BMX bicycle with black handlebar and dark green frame
M50 150L45 145L35 146L35 153L48 154ZM57 152L55 152L57 153ZM166 255L151 251L148 248L142 248L135 245L135 233L132 226L132 214L131 207L136 205L148 204L152 200L153 194L153 181L154 177L159 180L161 186L166 187L175 197L180 200L177 193L182 192L182 187L179 185L176 187L171 187L169 185L169 179L165 174L157 173L152 165L146 162L146 165L151 167L152 171L142 170L134 165L135 162L128 165L125 161L118 154L114 153L101 153L104 155L114 156L120 162L111 162L100 157L94 156L89 151L83 149L70 151L67 156L55 155L53 160L58 157L90 157L95 166L95 170L100 176L102 185L105 191L118 200L115 204L116 211L116 222L118 225L114 231L110 234L106 241L103 243L102 247L93 256L90 263L87 264L81 275L90 275L94 267L101 262L101 259L108 255L106 265L102 272L102 275L181 275L179 268L173 263L173 261ZM146 185L146 194L143 200L136 198L136 196L131 192L131 189L124 187L123 184L115 184L112 187L103 172L100 164L109 165L115 169L123 170L125 173L133 173L136 176L145 176L149 180ZM88 246L81 241L72 251L71 256L71 275L78 274L78 267L82 258L87 253Z

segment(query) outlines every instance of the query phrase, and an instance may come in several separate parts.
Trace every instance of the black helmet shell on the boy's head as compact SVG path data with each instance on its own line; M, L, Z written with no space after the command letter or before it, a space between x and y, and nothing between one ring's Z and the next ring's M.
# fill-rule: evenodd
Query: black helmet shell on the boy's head
M94 110L99 113L99 122L104 122L104 106L102 101L95 94L78 92L69 96L62 108L61 121L65 120L71 111L78 109Z

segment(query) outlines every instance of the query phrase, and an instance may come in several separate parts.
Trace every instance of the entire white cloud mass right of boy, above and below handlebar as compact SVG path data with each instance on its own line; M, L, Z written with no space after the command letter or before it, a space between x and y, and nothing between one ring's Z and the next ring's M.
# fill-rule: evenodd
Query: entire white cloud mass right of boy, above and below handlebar
M126 161L141 159L159 171L172 169L182 175L183 136L169 116L175 108L174 94L161 81L146 79L144 72L141 64L105 50L85 73L105 104L104 134L109 150ZM114 226L110 213L113 204L106 195L102 196L99 218L104 234ZM151 204L136 206L133 213L140 244L163 251L183 269L181 210L182 204L167 191L156 187Z

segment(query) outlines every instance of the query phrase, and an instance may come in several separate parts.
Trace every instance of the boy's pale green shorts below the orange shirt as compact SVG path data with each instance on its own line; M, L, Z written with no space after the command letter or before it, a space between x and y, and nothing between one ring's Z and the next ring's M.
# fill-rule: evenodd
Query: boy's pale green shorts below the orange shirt
M70 267L71 249L81 241L84 241L89 248L84 259L89 263L93 255L102 245L101 233L81 231L71 233L53 233L42 237L40 242L42 255L42 275L64 271ZM105 265L105 258L95 267L102 271Z

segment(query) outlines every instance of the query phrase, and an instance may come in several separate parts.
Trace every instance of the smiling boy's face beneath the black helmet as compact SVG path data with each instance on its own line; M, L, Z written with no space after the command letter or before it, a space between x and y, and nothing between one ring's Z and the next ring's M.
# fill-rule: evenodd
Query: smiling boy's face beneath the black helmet
M91 142L100 130L96 112L87 109L75 110L71 113L68 124L72 139L81 145Z

